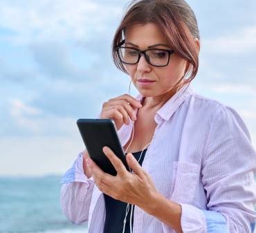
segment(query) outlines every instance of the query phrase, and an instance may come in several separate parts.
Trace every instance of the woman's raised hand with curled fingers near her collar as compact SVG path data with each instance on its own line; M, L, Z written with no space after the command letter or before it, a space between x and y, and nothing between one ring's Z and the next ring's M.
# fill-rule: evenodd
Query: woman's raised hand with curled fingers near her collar
M100 118L112 119L116 124L116 129L119 130L123 124L129 124L129 118L136 120L134 111L141 107L140 101L131 95L120 95L104 102Z

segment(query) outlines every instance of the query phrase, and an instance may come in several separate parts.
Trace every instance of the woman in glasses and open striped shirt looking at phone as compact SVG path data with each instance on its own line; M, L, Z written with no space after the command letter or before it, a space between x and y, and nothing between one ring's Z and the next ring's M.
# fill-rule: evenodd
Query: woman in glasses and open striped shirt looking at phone
M66 217L97 233L253 232L256 153L239 115L189 86L199 67L190 6L134 1L113 59L140 94L105 102L100 118L114 120L132 172L108 147L116 176L80 153L62 180Z

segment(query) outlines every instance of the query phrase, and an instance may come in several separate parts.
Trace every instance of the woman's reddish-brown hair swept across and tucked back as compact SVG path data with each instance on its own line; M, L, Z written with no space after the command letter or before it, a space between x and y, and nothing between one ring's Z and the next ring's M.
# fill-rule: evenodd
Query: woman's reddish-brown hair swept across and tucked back
M125 35L125 30L130 26L147 23L156 24L174 53L188 61L183 77L188 75L188 82L191 82L199 68L199 50L194 38L200 38L194 12L184 0L131 1L113 37L112 56L117 68L127 73L116 53L116 46L124 39L122 33Z

